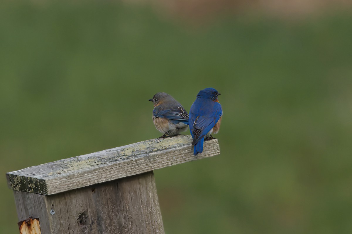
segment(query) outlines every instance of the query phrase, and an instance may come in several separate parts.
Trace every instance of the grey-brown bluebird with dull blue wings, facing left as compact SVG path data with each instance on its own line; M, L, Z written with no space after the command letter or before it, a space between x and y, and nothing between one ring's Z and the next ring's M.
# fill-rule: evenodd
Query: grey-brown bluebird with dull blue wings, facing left
M175 136L186 131L188 127L188 113L182 105L167 93L157 93L153 99L154 103L153 122L161 133L159 138Z

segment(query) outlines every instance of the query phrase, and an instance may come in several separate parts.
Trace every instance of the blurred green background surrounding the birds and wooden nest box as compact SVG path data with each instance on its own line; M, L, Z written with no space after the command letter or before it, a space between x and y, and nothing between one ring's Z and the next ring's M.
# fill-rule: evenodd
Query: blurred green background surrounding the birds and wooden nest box
M352 11L246 11L3 1L2 233L18 233L6 172L157 138L148 99L189 110L206 87L221 154L155 171L165 232L351 233Z

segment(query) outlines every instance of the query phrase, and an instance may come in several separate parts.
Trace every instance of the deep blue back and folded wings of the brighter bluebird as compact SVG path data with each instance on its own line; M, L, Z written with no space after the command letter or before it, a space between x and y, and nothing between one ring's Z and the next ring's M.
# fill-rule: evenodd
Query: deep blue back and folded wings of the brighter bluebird
M222 109L219 102L213 102L212 105L198 108L200 103L193 103L190 110L190 132L193 136L192 145L195 145L200 139L214 127L222 115Z

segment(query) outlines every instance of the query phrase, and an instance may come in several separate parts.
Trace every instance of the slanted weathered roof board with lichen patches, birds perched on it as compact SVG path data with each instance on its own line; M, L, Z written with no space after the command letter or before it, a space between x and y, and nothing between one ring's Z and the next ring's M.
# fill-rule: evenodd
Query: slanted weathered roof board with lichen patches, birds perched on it
M7 173L8 185L18 191L50 195L220 153L214 139L205 141L203 153L194 156L191 142L190 135L179 135L45 163Z

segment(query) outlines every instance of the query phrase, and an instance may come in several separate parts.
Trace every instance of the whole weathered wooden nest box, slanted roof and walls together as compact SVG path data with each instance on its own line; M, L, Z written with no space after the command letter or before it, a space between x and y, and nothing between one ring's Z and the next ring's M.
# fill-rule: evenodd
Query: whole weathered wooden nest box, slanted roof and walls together
M220 153L218 140L193 155L189 135L153 139L7 173L19 220L45 234L164 233L153 170Z

